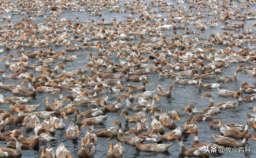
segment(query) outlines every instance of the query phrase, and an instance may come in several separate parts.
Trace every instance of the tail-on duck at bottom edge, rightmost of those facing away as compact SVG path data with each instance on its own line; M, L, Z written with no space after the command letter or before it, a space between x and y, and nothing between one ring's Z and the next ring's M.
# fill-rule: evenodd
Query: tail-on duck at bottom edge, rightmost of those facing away
M121 142L117 142L114 146L113 143L110 142L107 158L120 158L123 153L124 147L122 146Z

